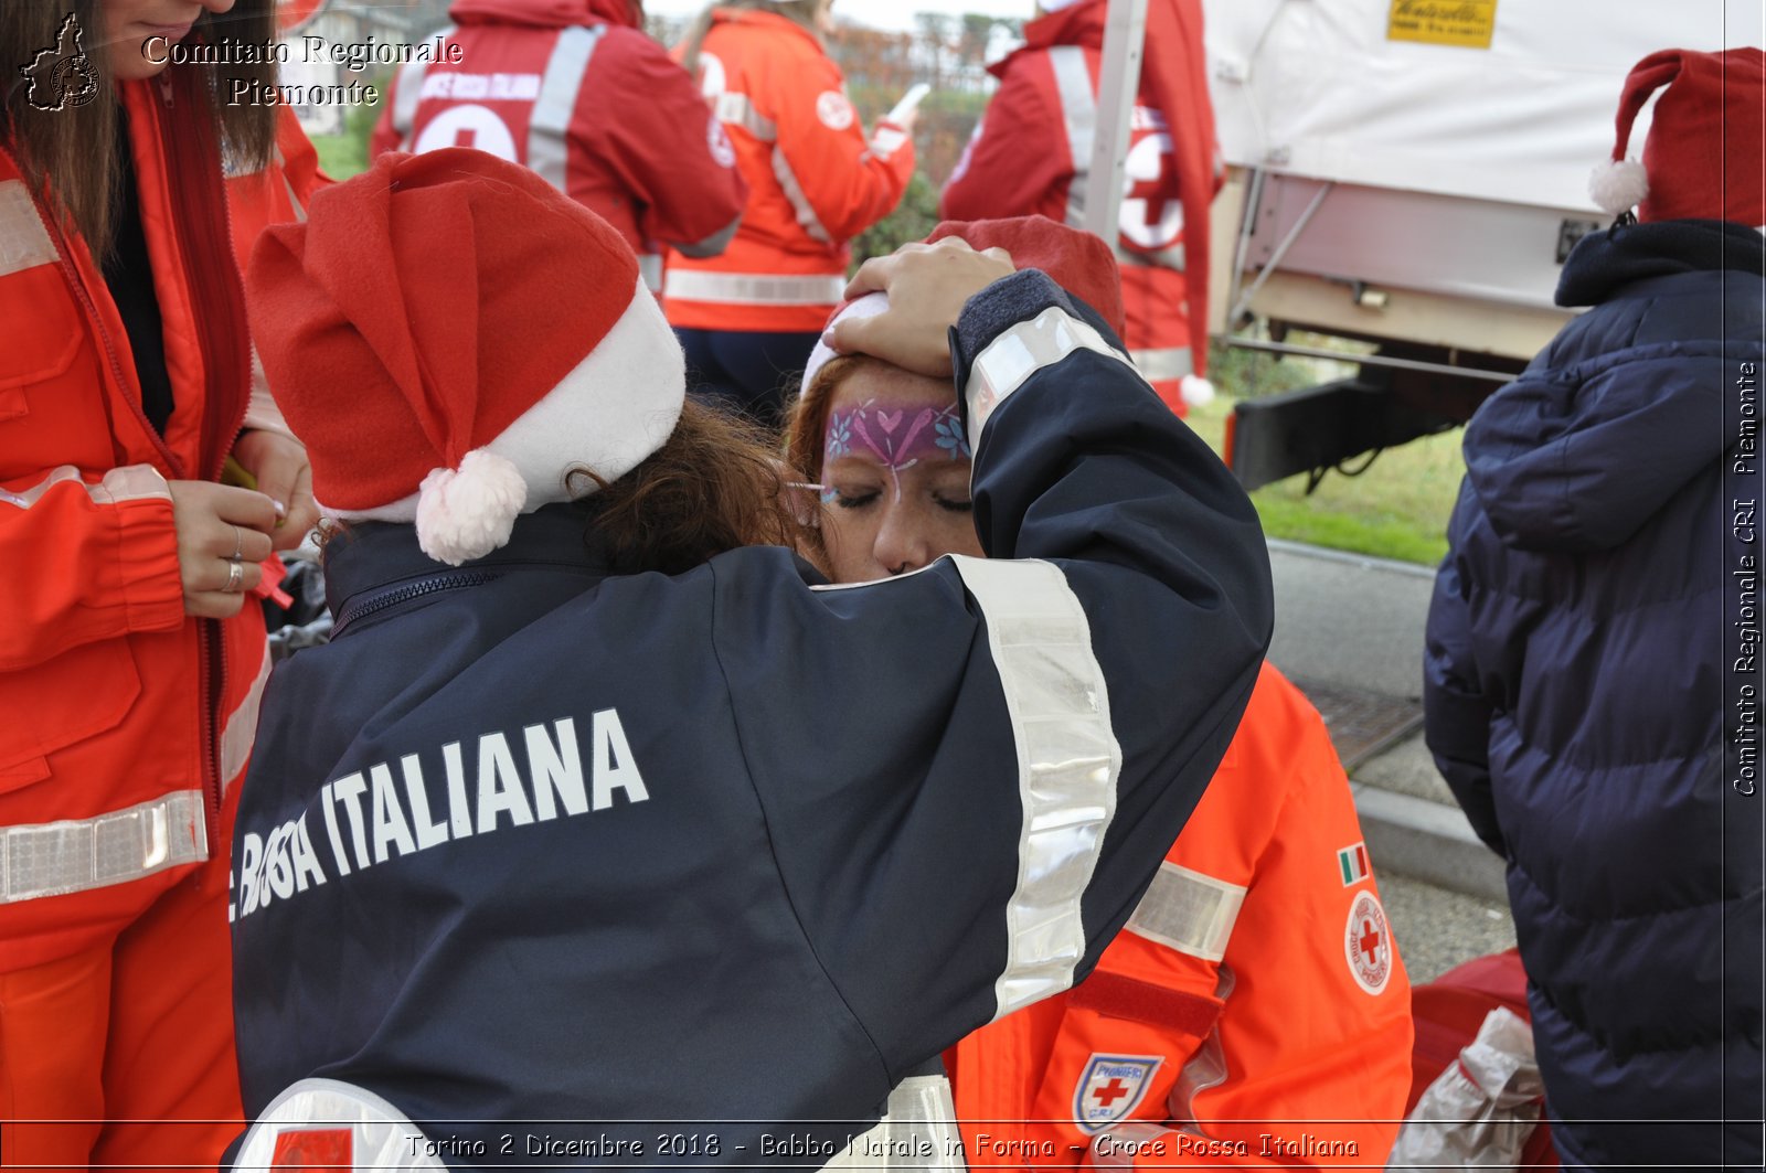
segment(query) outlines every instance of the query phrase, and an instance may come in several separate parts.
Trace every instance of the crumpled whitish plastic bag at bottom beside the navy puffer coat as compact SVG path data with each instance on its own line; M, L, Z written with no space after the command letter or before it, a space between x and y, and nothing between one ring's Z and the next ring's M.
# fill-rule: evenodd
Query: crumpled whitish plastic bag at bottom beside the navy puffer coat
M1416 1101L1386 1173L1513 1168L1538 1127L1543 1095L1533 1028L1498 1007Z

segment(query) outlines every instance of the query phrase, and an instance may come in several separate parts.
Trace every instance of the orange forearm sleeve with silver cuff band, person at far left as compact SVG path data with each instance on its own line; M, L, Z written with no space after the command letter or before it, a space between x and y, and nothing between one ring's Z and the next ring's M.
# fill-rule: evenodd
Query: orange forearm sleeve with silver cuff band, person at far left
M147 465L87 484L55 468L0 489L0 671L184 624L171 493Z

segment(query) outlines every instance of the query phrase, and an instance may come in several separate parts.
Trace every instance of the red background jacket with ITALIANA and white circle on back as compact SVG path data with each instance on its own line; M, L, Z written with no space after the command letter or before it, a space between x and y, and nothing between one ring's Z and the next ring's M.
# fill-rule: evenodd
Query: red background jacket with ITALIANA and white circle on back
M457 0L440 58L401 67L373 152L475 147L620 230L653 291L662 246L717 253L747 184L692 78L623 0Z

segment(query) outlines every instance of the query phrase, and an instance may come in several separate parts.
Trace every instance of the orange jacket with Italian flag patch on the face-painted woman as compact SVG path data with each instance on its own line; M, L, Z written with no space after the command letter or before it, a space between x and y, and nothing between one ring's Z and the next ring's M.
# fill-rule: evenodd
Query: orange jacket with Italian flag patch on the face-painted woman
M1324 723L1275 668L1098 968L945 1062L971 1166L1385 1162L1409 980Z

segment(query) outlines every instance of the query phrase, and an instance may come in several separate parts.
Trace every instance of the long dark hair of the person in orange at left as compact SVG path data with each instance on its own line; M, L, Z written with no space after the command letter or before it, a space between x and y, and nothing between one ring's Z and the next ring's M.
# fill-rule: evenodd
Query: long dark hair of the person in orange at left
M18 161L37 203L57 207L99 258L109 249L122 175L117 155L122 111L104 44L97 42L104 28L102 9L102 0L0 0L0 147ZM95 74L97 95L65 110L37 110L28 101L30 83L19 71L39 51L57 44L69 12L85 34L81 48ZM267 58L265 46L274 39L274 0L238 0L224 16L205 9L184 44L201 41L223 60L253 53ZM201 78L201 85L189 87L201 102L189 117L212 124L214 136L237 168L251 171L268 161L275 145L275 108L260 102L228 106L221 95L235 79L256 83L253 92L260 94L274 87L274 58L224 65L171 64L166 69L196 71Z

